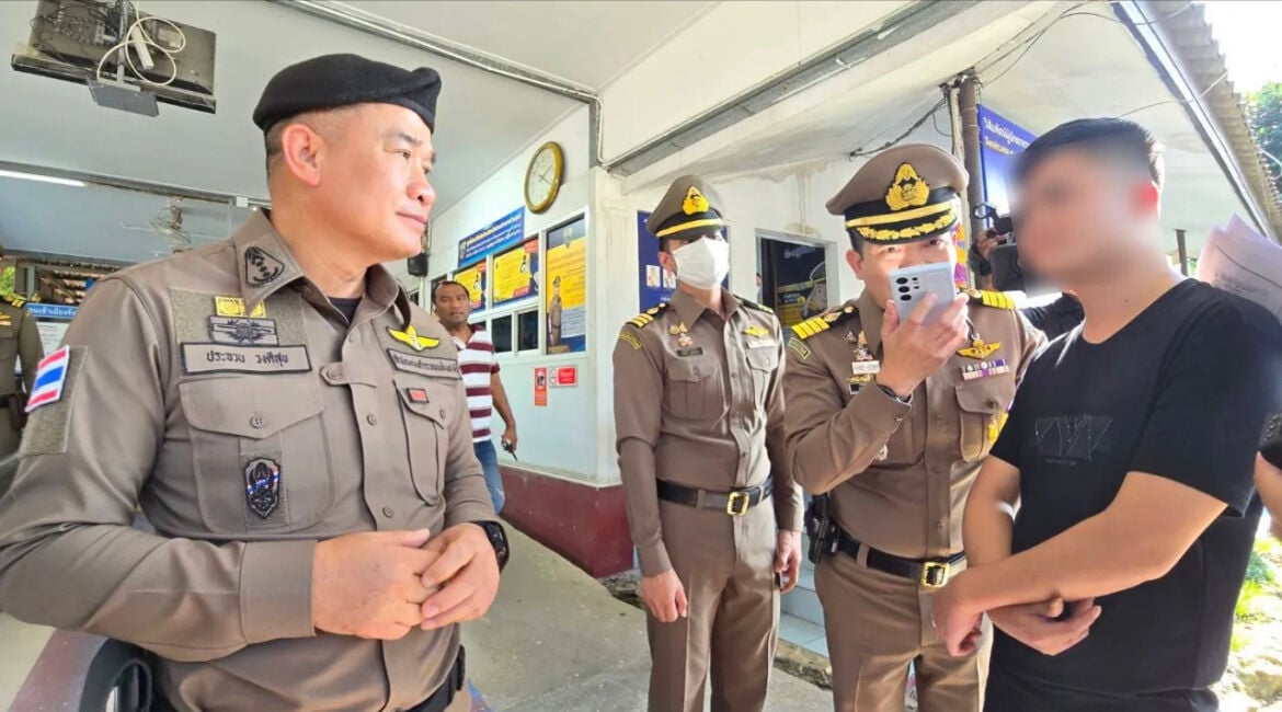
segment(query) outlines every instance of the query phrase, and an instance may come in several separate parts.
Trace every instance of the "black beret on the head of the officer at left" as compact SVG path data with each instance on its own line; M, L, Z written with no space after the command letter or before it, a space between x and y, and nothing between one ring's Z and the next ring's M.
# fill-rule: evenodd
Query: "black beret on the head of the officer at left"
M353 104L395 104L414 111L436 131L436 97L441 76L419 67L413 72L354 54L327 54L281 69L254 108L258 128L304 111Z

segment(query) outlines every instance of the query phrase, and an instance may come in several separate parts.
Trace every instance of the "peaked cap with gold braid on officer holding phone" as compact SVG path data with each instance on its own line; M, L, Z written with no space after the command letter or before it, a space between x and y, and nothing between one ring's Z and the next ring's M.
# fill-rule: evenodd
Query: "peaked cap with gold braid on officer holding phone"
M950 232L962 218L965 166L926 143L887 149L828 201L846 231L873 245L903 245Z

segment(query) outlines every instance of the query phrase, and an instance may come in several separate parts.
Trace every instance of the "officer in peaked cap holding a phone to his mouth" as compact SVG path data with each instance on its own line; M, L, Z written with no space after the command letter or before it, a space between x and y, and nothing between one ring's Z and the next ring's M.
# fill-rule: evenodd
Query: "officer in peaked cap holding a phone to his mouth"
M965 184L933 146L864 164L827 205L864 293L795 325L788 342L788 462L817 496L806 524L842 712L903 711L910 665L923 712L982 707L987 644L949 656L931 598L965 566L967 490L1044 339L994 292L959 296L935 321L924 305L904 323L886 309L891 270L956 265Z

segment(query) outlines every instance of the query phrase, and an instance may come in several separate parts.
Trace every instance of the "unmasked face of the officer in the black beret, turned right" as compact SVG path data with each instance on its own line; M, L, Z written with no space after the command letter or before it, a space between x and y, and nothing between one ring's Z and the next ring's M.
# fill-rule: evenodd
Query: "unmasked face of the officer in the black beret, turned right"
M305 175L295 168L314 190L313 207L370 264L419 254L436 201L428 182L436 151L427 124L401 106L359 104L320 117L318 125L310 155L300 159ZM309 129L286 129L291 154L294 131Z

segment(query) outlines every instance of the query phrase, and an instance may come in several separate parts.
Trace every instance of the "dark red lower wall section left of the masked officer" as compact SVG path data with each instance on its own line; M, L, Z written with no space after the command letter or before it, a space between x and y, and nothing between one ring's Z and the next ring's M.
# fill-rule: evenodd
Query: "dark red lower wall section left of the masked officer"
M623 485L592 487L501 466L503 519L601 578L632 569Z

